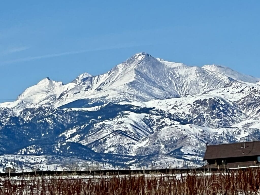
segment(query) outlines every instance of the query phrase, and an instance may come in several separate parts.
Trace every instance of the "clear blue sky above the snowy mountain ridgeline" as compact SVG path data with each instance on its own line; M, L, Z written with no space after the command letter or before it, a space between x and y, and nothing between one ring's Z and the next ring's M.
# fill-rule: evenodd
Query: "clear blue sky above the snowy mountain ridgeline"
M138 52L260 77L260 1L1 1L0 102Z

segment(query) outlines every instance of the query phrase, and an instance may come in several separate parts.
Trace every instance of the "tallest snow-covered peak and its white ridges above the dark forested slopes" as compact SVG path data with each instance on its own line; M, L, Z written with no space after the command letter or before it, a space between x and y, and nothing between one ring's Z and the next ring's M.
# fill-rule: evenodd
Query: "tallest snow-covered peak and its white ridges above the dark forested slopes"
M84 73L66 85L43 79L26 89L15 102L2 106L58 108L77 104L85 107L108 102L169 99L207 92L230 82L232 79L217 72L139 53L103 75Z

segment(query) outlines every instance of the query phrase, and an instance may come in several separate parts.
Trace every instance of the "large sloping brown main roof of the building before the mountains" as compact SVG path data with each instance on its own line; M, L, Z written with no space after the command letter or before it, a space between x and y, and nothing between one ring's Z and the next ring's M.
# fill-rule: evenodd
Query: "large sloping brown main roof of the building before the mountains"
M207 146L204 160L260 156L260 141Z

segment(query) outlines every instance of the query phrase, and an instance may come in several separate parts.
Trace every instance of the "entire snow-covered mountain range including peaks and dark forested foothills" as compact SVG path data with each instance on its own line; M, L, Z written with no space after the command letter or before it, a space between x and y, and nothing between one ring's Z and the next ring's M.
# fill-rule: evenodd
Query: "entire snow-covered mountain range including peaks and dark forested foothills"
M0 155L20 159L20 167L24 155L78 158L82 166L199 166L206 142L259 139L258 81L147 53L68 84L46 78L0 104Z

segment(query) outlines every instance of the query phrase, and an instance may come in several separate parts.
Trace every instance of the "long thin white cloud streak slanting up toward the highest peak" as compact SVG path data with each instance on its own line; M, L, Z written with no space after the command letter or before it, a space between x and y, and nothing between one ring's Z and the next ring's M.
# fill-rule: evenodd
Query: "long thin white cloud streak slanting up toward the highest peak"
M140 45L138 45L138 46L140 46ZM79 50L79 51L66 51L66 52L61 52L61 53L56 53L56 54L46 54L46 55L40 55L40 56L19 58L19 59L15 59L15 60L9 60L9 61L0 62L0 64L11 64L11 63L16 63L16 62L32 61L32 60L38 60L38 59L44 59L44 58L51 58L51 57L59 57L59 56L66 56L66 55L72 55L72 54L87 53L87 52L91 52L91 51L101 51L101 50L107 50L107 49L120 49L120 48L129 48L129 47L136 47L136 46L100 48L100 49L86 49L86 50Z

